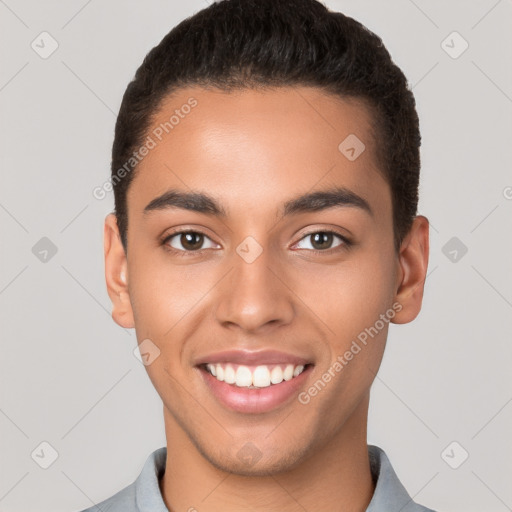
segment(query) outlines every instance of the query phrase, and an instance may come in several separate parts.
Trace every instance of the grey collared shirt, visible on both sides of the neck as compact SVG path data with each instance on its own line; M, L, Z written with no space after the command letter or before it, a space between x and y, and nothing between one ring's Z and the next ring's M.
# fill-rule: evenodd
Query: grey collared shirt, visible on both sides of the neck
M413 501L381 448L368 445L368 452L376 486L366 512L434 512ZM169 512L158 485L165 471L166 457L165 446L155 450L135 482L82 512Z

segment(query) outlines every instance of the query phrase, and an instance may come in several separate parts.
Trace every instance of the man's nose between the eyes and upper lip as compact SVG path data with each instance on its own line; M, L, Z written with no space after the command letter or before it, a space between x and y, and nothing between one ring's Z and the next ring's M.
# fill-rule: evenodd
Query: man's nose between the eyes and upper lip
M218 289L217 321L251 333L289 324L295 315L292 288L282 269L273 268L267 251L251 263L235 254Z

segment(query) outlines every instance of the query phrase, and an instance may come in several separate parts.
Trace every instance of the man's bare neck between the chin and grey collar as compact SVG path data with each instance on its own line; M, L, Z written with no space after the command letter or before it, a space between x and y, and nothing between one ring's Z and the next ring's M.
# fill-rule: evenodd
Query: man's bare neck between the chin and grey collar
M214 467L164 407L167 460L160 489L171 512L365 511L374 492L366 397L339 432L288 471L242 476Z

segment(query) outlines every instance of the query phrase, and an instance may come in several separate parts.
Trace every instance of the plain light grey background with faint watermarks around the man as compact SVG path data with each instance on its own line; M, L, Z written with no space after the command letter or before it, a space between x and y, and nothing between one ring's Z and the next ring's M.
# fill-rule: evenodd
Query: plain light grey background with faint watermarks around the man
M432 225L423 310L391 326L369 442L425 505L512 510L512 2L327 5L381 36L413 87L419 213ZM115 116L136 68L205 6L0 0L1 511L91 506L165 445L135 334L110 317L102 225L113 199L92 190L108 178ZM43 31L59 45L46 59L31 47L51 48ZM453 31L469 44L457 58ZM44 441L58 453L48 469Z

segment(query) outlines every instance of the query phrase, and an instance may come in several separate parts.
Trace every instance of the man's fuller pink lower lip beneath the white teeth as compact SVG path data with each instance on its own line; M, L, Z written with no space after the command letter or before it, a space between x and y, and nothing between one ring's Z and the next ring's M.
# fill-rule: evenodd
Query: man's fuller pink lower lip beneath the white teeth
M199 371L210 391L222 405L236 412L257 414L269 412L296 397L311 369L312 365L308 365L293 379L259 389L226 384L205 369L200 368Z

